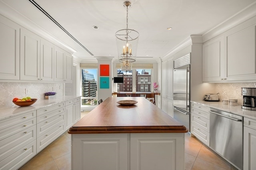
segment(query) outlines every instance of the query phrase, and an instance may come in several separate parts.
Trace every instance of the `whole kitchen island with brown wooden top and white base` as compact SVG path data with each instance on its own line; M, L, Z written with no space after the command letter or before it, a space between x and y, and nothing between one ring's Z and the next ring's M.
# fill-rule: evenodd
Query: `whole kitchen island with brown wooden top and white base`
M188 129L144 97L109 97L74 124L73 170L184 170Z

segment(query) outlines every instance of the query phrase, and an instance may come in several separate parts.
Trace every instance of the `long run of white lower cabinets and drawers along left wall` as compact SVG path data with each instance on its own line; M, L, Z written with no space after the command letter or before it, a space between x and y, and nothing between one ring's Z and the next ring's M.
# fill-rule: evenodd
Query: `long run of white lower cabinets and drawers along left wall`
M71 101L72 119L78 121L80 97ZM66 131L65 103L0 120L0 170L20 168Z

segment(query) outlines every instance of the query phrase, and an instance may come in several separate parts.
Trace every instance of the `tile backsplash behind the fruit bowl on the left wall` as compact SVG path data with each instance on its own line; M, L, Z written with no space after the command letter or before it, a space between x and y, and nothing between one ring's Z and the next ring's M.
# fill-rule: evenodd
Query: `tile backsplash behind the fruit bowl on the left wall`
M25 89L29 90L25 94ZM56 92L57 96L64 95L63 83L25 83L25 82L0 82L0 107L12 107L13 98L30 96L38 100L44 100L45 92Z

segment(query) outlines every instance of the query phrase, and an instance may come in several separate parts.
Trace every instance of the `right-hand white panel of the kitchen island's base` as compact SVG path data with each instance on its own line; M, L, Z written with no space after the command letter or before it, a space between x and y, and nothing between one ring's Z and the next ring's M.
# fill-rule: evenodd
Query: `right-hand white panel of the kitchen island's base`
M183 133L131 133L131 170L184 170Z

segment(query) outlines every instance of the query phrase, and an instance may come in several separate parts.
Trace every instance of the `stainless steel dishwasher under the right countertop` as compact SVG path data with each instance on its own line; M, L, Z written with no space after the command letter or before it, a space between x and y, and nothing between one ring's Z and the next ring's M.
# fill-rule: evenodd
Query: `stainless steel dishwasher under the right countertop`
M243 117L210 108L210 148L243 169Z

